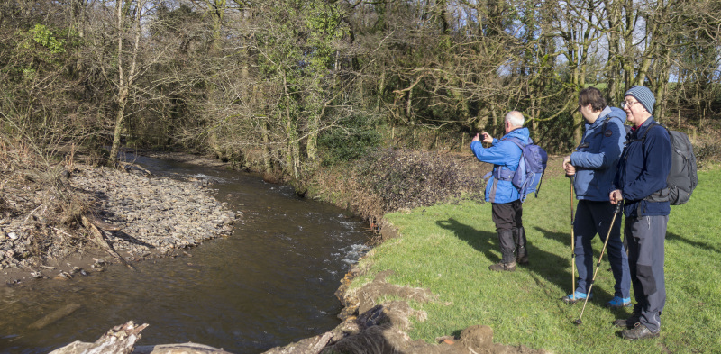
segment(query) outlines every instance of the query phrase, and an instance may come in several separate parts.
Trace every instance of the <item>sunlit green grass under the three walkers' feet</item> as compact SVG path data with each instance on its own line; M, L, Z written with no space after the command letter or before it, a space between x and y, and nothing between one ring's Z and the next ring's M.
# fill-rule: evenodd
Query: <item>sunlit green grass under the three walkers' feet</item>
M595 297L579 318L582 303L569 305L571 292L570 186L565 177L544 179L541 194L524 204L530 265L514 273L488 266L500 260L490 204L464 202L386 215L402 237L386 241L363 262L370 272L393 269L388 281L431 290L432 302L411 303L428 314L409 335L433 342L459 335L474 324L494 329L494 341L556 353L721 352L721 228L718 186L721 172L699 171L688 204L671 207L665 243L667 301L658 339L629 342L611 324L630 308L609 310L613 276L607 255L593 287ZM575 201L574 201L575 204ZM618 222L618 221L616 221ZM602 246L594 241L595 259ZM633 291L632 291L633 300Z

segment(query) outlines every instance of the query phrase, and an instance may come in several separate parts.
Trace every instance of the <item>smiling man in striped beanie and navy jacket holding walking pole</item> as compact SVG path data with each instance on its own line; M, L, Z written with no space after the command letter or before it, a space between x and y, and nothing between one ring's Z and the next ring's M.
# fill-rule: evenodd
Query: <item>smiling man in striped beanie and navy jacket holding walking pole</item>
M671 170L671 140L666 129L656 127L659 124L652 115L655 103L648 87L633 86L626 91L622 107L626 120L634 127L609 195L611 204L624 203L628 266L636 304L628 319L614 323L625 327L620 334L627 340L658 337L666 304L663 241L671 205L668 201L649 200L649 196L666 188Z

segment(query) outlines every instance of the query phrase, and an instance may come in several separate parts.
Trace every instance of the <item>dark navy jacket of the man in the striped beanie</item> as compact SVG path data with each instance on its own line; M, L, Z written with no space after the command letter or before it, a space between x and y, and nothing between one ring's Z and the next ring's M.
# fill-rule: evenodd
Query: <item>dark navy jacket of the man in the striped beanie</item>
M626 217L668 215L669 202L648 202L643 198L666 187L671 171L671 139L662 127L649 126L653 117L631 132L631 137L618 163L614 185L624 196ZM645 142L642 141L646 134Z

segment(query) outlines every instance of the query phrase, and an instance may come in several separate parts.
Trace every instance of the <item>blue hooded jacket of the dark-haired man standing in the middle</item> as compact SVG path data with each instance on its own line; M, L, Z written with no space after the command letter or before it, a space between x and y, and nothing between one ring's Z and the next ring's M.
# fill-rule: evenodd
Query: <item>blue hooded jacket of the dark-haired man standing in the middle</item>
M576 198L595 202L608 201L618 159L625 145L625 112L606 107L593 124L586 123L570 164L576 168Z

